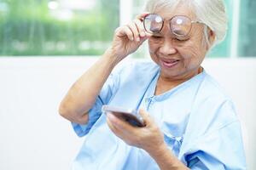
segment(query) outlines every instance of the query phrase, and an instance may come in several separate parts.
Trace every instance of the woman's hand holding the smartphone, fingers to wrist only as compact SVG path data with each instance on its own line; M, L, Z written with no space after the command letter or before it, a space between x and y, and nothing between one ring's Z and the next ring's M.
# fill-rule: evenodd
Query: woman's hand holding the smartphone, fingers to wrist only
M164 135L146 111L140 110L139 113L146 123L145 127L133 127L111 113L108 113L107 116L108 127L116 136L123 139L126 144L142 148L149 154L155 154L166 146Z

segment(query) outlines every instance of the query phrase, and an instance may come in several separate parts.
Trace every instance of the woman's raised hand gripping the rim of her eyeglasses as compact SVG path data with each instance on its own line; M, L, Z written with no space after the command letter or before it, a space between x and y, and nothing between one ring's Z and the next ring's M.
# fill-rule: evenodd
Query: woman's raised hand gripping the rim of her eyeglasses
M142 21L147 14L139 14L128 25L120 26L115 30L111 50L113 55L118 57L119 60L135 52L150 36L145 31Z

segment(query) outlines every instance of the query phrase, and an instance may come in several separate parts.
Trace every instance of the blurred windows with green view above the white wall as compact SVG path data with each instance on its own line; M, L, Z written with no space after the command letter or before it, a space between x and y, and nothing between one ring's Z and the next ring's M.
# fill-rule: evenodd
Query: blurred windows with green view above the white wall
M145 0L1 0L0 55L99 55L114 29L143 11ZM229 31L210 57L256 54L253 0L225 0ZM143 57L143 55L135 55Z

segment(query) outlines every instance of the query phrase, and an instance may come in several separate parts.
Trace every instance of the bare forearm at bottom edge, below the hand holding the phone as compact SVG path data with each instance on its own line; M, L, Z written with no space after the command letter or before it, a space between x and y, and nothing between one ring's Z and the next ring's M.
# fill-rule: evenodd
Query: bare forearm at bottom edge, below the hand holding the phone
M159 150L148 152L153 157L161 170L187 170L189 169L183 162L179 161L176 156L168 150L167 145L163 144Z

